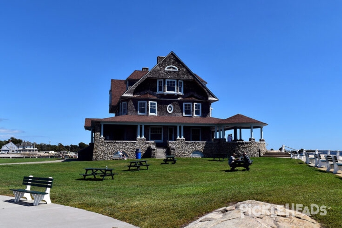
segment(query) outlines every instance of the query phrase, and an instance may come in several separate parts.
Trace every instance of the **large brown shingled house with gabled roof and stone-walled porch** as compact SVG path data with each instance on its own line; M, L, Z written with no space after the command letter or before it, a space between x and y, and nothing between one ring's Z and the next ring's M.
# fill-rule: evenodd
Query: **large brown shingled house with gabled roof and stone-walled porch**
M79 158L109 160L119 150L134 158L136 149L143 158L211 157L233 151L262 155L266 151L263 126L267 124L240 114L214 118L211 104L216 101L207 82L175 53L158 56L152 69L144 67L126 80L111 80L109 113L115 116L85 120L91 142L79 152ZM250 129L248 141L242 139L241 129ZM259 141L253 129L260 129ZM227 130L234 132L233 142L226 142Z

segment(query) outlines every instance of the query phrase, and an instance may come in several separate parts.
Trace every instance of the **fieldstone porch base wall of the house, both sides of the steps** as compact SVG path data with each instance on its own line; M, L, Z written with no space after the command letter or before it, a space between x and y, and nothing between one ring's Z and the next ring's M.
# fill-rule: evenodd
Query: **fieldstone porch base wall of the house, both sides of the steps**
M215 153L237 153L241 156L246 152L250 157L259 157L267 151L265 142L226 142L225 139L215 139L213 142L190 142L185 139L176 139L168 142L170 153L175 157L187 158L198 150L205 158L212 158ZM111 160L114 153L124 151L129 159L135 159L135 150L141 149L142 158L154 158L155 146L153 141L137 138L136 141L105 141L100 137L100 125L95 127L93 160Z

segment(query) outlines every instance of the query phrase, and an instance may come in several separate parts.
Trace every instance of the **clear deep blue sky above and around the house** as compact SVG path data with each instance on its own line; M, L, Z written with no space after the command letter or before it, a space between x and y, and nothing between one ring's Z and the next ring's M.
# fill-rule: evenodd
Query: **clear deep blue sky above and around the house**
M174 51L219 98L213 117L268 124L267 149L342 150L342 1L0 5L0 140L88 144L84 119L113 116L110 79Z

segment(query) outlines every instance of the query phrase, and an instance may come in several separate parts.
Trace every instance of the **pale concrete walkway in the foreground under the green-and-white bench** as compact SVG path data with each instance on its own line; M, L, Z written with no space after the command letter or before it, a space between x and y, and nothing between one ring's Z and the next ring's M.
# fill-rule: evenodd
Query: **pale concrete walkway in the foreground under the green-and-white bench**
M32 205L33 200L14 202L14 197L0 196L1 228L139 228L120 220L59 204Z

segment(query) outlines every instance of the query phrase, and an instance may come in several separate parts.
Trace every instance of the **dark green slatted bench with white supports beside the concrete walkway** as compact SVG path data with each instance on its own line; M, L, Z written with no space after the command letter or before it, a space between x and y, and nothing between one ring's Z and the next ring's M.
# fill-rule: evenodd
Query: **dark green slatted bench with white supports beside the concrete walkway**
M14 193L14 202L18 202L21 198L31 200L32 195L34 206L38 205L40 201L45 201L47 204L51 203L50 189L52 188L52 181L52 177L24 176L23 185L26 185L25 189L10 189ZM31 186L45 188L45 191L32 191Z

